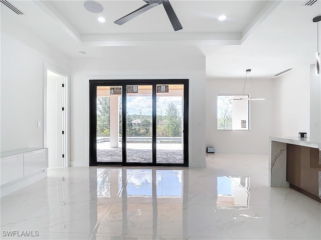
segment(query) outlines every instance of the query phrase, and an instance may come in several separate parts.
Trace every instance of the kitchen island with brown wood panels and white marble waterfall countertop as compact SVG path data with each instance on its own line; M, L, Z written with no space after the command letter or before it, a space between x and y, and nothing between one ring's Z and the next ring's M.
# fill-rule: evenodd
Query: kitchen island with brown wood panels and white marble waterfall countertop
M289 186L321 202L321 140L270 137L269 149L269 186Z

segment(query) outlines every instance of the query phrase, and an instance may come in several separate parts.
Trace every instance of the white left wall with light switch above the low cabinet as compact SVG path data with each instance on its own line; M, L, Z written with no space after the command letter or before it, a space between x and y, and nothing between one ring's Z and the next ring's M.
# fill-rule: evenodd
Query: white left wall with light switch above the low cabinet
M11 21L1 21L1 151L42 147L43 66L68 71L59 51Z

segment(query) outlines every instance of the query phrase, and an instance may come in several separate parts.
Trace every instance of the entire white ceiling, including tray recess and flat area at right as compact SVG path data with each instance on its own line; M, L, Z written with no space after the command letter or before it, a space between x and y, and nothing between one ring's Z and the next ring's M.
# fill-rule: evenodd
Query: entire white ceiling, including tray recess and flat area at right
M314 64L312 19L321 15L320 0L311 7L301 7L305 1L170 0L183 26L174 32L162 5L124 25L113 23L145 5L142 0L98 0L104 7L101 14L88 12L79 0L9 2L26 15L1 5L2 22L18 22L71 58L101 57L114 46L192 46L206 56L207 78L241 78L249 68L254 78L271 78L288 68ZM222 14L227 15L224 22L217 20ZM107 21L99 23L99 16Z

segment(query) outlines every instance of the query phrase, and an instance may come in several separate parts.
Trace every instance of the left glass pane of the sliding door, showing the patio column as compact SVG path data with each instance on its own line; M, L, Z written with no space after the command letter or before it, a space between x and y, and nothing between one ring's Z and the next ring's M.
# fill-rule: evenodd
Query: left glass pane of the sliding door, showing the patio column
M97 162L122 162L122 87L97 86Z

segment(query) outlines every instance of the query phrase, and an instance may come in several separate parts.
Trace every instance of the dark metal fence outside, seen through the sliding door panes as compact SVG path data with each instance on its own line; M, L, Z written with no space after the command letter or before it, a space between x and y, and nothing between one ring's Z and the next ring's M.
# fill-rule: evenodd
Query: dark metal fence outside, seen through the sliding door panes
M120 133L119 136L122 136L122 134ZM126 136L151 137L152 126L151 124L127 123ZM158 123L156 124L156 136L157 137L182 137L182 126L169 124L169 123ZM109 123L97 124L97 137L110 137Z

